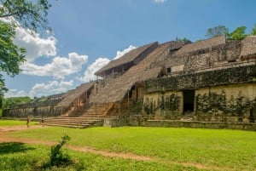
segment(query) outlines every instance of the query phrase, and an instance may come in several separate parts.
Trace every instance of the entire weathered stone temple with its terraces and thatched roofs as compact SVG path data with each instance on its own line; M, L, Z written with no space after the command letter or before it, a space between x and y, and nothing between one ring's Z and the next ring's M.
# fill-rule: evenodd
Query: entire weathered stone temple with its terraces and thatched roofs
M66 119L78 126L87 119L86 126L256 130L255 64L253 36L149 43L96 71L102 79L16 105L4 117L47 117L45 123L52 125L65 125Z

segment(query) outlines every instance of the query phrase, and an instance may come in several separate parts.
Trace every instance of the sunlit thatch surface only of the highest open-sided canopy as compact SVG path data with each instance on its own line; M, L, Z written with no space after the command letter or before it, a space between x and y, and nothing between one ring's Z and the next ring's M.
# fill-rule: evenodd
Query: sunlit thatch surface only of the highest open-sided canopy
M147 51L148 48L152 48L154 46L157 46L157 44L158 44L157 42L149 43L149 44L146 44L142 47L135 48L135 49L131 50L129 53L124 54L124 56L122 56L121 58L119 58L117 60L110 61L107 66L104 66L99 71L96 71L95 75L96 76L101 76L101 75L103 75L102 72L104 72L104 71L108 71L108 70L110 70L114 67L122 66L124 64L130 63L130 62L136 60L145 51Z

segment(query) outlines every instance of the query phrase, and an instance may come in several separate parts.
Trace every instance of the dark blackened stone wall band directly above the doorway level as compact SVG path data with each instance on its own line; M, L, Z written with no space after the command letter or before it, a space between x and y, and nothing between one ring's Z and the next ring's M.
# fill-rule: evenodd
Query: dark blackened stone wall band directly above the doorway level
M151 79L145 82L147 93L160 92L162 90L181 90L230 85L237 83L253 83L256 77L256 66L240 66L228 69L189 72L178 75L177 77L165 77Z

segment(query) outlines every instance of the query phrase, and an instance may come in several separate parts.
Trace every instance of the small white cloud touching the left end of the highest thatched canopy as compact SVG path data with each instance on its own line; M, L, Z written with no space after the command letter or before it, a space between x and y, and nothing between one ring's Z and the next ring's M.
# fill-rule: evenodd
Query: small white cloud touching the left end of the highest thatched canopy
M79 80L82 82L90 82L90 80L96 80L94 73L99 71L103 66L106 66L110 60L108 58L98 58L94 63L87 67L84 71L84 77L80 77Z

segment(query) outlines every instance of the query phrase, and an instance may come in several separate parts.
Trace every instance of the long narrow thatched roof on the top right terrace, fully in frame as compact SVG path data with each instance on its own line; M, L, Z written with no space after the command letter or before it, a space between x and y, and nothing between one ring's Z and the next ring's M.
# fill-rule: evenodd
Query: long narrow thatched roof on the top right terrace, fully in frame
M212 46L224 44L225 41L226 38L224 36L212 37L210 39L201 40L195 43L189 43L187 45L184 45L182 48L177 50L175 54L186 54L200 49L211 48Z

